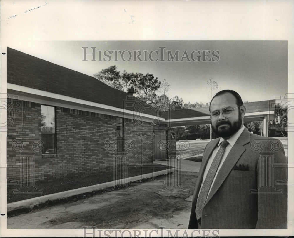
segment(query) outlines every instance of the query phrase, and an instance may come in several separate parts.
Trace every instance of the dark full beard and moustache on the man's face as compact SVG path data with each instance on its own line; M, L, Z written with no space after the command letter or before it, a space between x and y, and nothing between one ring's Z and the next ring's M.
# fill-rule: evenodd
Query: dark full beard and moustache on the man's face
M218 129L220 125L229 125L229 127L225 127L224 129ZM219 137L226 138L226 137L231 137L233 134L238 132L241 126L242 126L242 116L239 111L239 116L237 121L233 123L230 121L225 121L225 120L219 121L216 123L215 126L211 125L211 129L214 132L214 134L218 135Z

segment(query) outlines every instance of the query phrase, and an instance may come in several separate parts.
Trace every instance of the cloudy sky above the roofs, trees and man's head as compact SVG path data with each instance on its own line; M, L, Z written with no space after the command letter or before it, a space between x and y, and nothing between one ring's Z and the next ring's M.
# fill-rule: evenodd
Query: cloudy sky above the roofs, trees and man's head
M220 89L239 92L244 101L270 100L287 92L287 41L11 41L8 46L90 76L112 65L121 72L150 73L159 81L166 79L168 95L186 103L209 101L210 78ZM96 61L92 55L83 61L91 47L96 47ZM107 50L120 52L115 57ZM170 56L178 52L178 60L168 61L168 51Z

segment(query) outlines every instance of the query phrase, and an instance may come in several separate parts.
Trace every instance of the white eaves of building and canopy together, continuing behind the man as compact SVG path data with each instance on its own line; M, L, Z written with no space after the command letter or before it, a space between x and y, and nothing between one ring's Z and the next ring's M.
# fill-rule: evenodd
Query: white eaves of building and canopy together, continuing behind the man
M91 111L111 116L118 116L129 119L137 119L146 122L159 122L160 124L167 124L168 127L180 127L191 125L210 124L211 119L207 116L196 116L189 118L165 119L156 113L155 116L143 112L132 111L123 108L99 104L96 102L77 99L74 97L55 94L39 89L32 89L30 87L20 86L17 84L7 83L7 93L10 98L17 96L17 99L24 101L31 101L40 104L65 107L70 109ZM274 119L274 111L260 111L248 112L245 114L244 122L263 121Z

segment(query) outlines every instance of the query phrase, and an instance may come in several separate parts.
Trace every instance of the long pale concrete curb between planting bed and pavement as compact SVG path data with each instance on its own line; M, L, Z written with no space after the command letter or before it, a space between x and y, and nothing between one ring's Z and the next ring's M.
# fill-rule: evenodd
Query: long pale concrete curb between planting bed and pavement
M67 190L64 192L58 192L58 193L48 194L48 195L44 195L44 196L40 196L40 197L34 197L34 198L21 200L21 201L17 201L17 202L11 202L11 203L7 204L7 212L10 212L15 209L20 209L20 208L33 208L37 204L46 202L48 200L52 201L52 200L56 200L56 199L71 197L74 195L78 195L78 194L82 194L82 193L86 193L86 192L92 192L95 190L100 190L100 189L104 189L104 188L108 188L108 187L112 187L112 186L116 186L116 185L126 184L129 182L133 182L133 181L137 181L137 180L141 180L141 179L156 177L159 175L168 174L170 172L175 172L175 171L176 171L176 168L171 168L171 169L167 169L167 170L160 170L160 171L156 171L156 172L149 173L149 174L142 174L142 175L138 175L138 176L134 176L134 177L129 177L129 178L125 178L125 179L119 179L119 180L115 180L115 181L111 181L111 182L106 182L103 184L96 184L96 185L92 185L92 186L88 186L88 187L82 187L82 188Z

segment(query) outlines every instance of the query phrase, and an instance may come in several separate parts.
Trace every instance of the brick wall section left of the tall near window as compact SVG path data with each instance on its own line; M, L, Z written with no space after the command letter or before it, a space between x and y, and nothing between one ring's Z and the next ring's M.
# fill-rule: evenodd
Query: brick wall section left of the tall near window
M36 162L42 157L41 105L7 100L10 108L7 110L7 178L19 181L21 171L23 179L30 178L34 172L26 161Z

